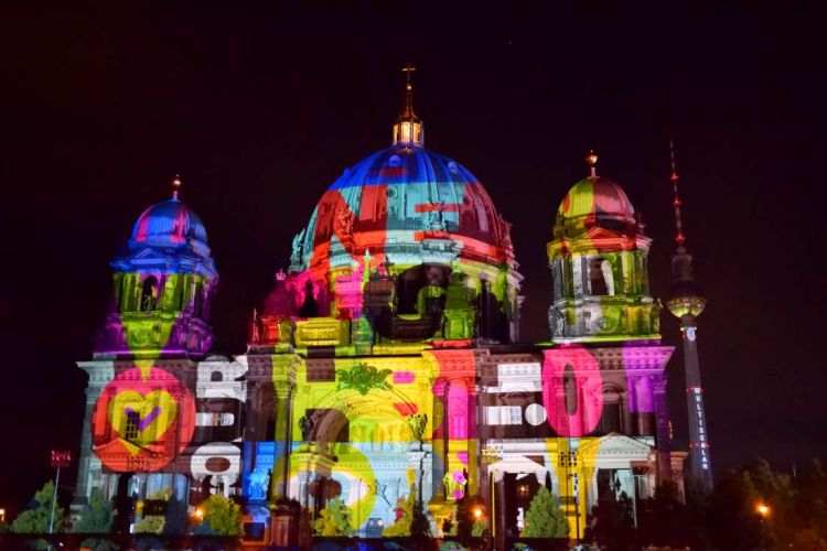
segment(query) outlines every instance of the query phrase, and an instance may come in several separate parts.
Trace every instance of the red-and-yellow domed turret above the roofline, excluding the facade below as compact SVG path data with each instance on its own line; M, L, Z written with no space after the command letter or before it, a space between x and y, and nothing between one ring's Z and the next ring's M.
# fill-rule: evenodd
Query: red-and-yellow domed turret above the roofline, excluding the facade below
M660 304L649 294L648 249L623 188L599 177L577 182L557 213L548 258L556 343L658 339Z

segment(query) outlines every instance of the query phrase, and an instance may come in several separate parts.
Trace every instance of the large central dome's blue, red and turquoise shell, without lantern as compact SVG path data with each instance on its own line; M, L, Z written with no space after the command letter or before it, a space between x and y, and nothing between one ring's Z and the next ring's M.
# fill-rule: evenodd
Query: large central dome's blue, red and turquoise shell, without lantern
M314 209L302 245L302 268L344 266L366 250L394 263L429 250L448 261L505 262L512 255L507 224L476 177L457 161L400 143L344 171Z

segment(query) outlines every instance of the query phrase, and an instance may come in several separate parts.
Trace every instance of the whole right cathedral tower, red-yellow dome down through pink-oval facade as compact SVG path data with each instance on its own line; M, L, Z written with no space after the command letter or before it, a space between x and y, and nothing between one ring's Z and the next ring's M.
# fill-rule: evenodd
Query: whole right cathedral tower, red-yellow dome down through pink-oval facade
M625 493L635 506L669 479L659 302L649 294L643 231L623 188L600 177L598 156L557 212L548 259L554 278L543 395L556 432L559 494L571 534L599 496Z

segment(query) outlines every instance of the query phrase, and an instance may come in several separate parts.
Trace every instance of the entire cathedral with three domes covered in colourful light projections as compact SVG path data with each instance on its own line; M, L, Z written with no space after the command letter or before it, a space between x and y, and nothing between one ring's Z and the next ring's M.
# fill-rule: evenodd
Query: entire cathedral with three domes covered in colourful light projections
M333 498L378 537L404 534L410 496L441 534L468 495L504 538L546 486L573 538L603 491L683 485L652 239L587 161L549 215L549 341L522 343L511 224L465 166L425 149L408 78L391 145L322 194L232 359L211 355L218 271L175 179L111 262L111 309L78 363L75 505L99 488L135 522L141 500L192 511L219 493L244 504L250 544L297 544Z

